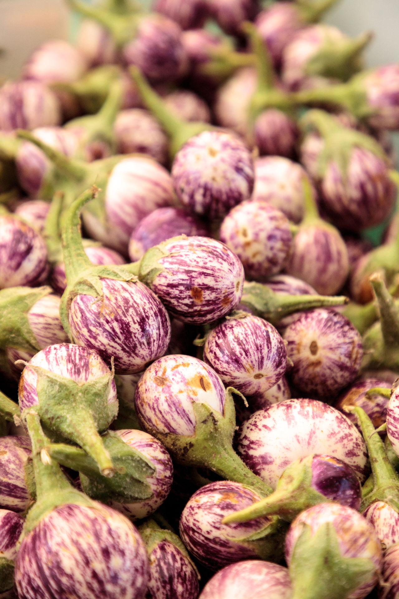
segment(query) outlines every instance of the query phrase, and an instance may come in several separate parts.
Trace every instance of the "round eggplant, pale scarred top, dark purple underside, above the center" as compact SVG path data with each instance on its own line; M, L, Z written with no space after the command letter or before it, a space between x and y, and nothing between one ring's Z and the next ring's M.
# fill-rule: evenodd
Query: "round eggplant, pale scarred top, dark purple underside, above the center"
M249 199L254 187L251 153L236 135L203 131L176 154L172 179L185 206L217 219Z

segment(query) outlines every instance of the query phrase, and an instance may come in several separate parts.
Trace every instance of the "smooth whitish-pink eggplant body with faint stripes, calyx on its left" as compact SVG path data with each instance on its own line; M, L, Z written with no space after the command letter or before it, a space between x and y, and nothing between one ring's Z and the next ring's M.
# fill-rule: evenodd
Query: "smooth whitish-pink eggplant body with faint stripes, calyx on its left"
M126 246L133 229L156 208L173 202L172 179L166 168L145 156L118 162L108 179L105 196L106 216L121 229Z

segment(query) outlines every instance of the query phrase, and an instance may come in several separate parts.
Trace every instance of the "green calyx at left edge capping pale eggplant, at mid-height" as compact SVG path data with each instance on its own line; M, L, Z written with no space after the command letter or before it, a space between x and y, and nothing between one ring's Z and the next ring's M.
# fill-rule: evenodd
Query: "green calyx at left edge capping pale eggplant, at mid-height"
M0 290L0 353L8 347L37 353L41 350L28 313L36 301L53 292L51 287L11 287Z

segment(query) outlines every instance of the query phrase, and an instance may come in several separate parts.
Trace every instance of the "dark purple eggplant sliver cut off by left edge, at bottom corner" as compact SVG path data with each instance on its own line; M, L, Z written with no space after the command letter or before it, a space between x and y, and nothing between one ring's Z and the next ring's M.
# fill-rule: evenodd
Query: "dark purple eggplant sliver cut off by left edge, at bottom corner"
M10 510L0 510L0 594L14 586L14 560L24 519Z

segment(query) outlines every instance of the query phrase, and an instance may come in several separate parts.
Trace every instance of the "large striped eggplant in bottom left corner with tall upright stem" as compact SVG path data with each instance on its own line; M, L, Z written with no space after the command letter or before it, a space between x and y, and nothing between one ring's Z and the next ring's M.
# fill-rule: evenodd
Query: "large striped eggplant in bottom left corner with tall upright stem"
M137 529L74 489L45 452L48 440L34 410L26 420L38 500L16 559L19 598L144 599L148 559Z

